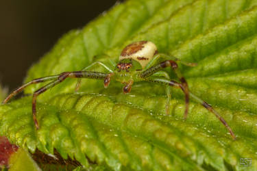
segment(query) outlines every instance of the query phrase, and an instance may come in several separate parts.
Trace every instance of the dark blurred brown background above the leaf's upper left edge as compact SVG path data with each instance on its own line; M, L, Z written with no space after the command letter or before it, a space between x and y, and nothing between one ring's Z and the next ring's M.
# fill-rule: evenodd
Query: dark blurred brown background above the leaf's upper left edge
M117 0L0 1L0 83L21 86L29 66L71 29L82 28Z

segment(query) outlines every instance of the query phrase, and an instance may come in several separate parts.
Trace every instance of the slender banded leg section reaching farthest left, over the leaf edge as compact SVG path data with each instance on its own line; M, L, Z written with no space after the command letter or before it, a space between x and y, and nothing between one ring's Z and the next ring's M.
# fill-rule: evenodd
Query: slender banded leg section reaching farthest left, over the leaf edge
M53 75L53 76L49 76L49 77L42 77L42 78L38 78L38 79L33 79L32 81L29 81L28 83L25 83L23 86L17 88L11 94L9 94L9 96L7 96L5 98L5 100L3 101L3 104L8 103L10 98L12 98L13 96L16 96L16 94L18 94L24 88L27 88L27 86L29 86L31 84L42 83L42 82L45 82L45 81L51 81L51 80L57 79L58 77L59 77L59 75Z

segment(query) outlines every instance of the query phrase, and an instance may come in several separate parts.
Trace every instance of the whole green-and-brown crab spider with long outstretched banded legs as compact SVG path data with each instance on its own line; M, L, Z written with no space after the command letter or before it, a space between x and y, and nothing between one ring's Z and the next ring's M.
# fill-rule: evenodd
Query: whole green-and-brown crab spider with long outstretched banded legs
M163 59L162 62L158 62L160 59ZM219 115L215 109L213 109L208 103L201 100L191 92L189 92L188 84L186 83L186 79L180 73L178 68L177 62L184 64L186 66L195 66L195 63L186 63L180 61L178 58L173 57L171 55L166 55L163 53L158 53L157 47L153 42L149 41L139 41L133 42L132 44L127 45L121 51L121 55L119 57L118 64L113 64L114 69L108 68L105 64L101 62L94 62L90 66L84 68L81 71L73 71L73 72L64 72L60 73L60 75L52 75L48 77L41 77L38 79L33 79L28 83L25 83L23 86L17 88L12 92L3 103L7 103L10 98L21 92L27 86L34 84L34 83L41 83L45 81L51 81L47 85L43 86L42 88L36 90L33 94L32 98L32 116L34 120L34 124L36 129L39 128L38 120L36 119L36 98L42 92L49 90L49 88L53 88L56 84L61 83L64 79L71 77L77 78L77 85L76 90L78 90L80 86L80 82L82 78L87 79L102 79L103 85L107 88L110 84L110 80L116 80L123 83L125 86L123 87L123 92L126 94L130 92L132 85L134 82L138 81L147 81L150 83L158 83L167 87L167 105L166 105L166 113L169 114L169 101L171 98L170 89L171 87L180 88L184 92L185 96L185 105L186 109L184 111L184 119L188 114L188 107L189 107L189 96L194 98L196 101L201 103L208 111L215 114L215 116L222 122L222 124L228 129L230 135L235 140L236 136L234 135L232 129L228 126L227 122ZM108 70L108 73L99 73L95 71L90 71L95 65L99 65L103 68ZM175 75L178 77L180 82L170 79L169 74L164 72L162 69L171 67Z

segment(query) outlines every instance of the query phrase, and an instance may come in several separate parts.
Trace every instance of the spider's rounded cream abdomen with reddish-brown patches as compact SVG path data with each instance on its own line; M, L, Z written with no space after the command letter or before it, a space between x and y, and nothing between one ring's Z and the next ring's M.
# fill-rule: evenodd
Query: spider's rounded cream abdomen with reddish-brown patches
M142 68L158 53L156 44L149 41L133 42L121 51L119 60L132 59L140 63Z

